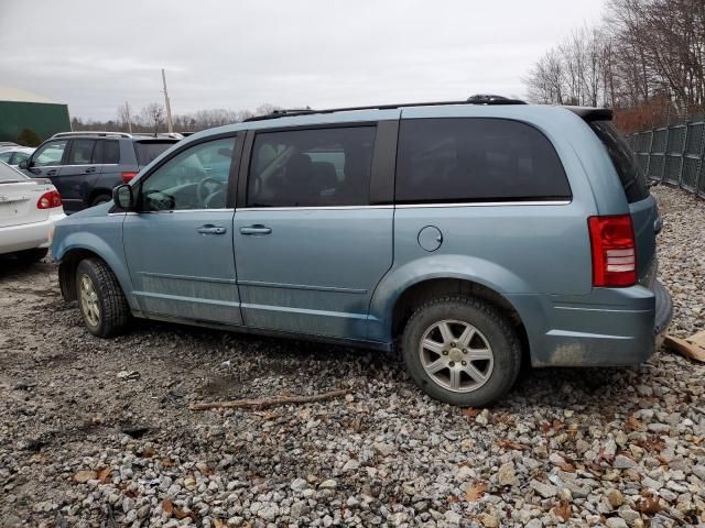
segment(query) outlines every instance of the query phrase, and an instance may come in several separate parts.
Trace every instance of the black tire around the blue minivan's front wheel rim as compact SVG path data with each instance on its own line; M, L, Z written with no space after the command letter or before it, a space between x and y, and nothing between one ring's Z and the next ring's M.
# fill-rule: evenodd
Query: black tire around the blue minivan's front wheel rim
M88 277L96 294L97 316L86 307L82 297L83 280ZM80 261L76 268L76 298L80 316L90 333L110 338L124 331L130 320L130 307L117 277L98 258Z

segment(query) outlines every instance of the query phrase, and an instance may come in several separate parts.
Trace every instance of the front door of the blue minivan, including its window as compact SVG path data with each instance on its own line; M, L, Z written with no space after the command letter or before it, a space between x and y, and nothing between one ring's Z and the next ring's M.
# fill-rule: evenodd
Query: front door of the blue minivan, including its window
M240 324L226 207L236 138L182 150L135 185L123 244L141 309L149 316Z

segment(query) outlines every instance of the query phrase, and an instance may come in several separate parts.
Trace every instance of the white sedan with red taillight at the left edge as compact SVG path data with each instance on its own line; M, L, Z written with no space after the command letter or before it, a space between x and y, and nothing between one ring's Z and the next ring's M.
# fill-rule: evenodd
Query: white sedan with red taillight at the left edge
M54 223L65 217L62 197L48 179L28 178L0 162L0 254L41 261Z

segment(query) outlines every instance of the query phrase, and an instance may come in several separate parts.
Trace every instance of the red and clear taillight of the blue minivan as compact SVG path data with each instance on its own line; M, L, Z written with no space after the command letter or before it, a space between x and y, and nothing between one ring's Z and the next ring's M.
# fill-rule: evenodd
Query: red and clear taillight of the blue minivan
M631 216L589 217L593 286L620 287L637 283L637 244Z

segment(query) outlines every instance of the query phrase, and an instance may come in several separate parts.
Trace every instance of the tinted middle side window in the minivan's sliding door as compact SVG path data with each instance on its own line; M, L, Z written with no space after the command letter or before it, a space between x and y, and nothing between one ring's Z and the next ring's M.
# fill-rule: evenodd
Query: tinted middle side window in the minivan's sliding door
M248 206L367 205L375 133L351 127L257 134Z

